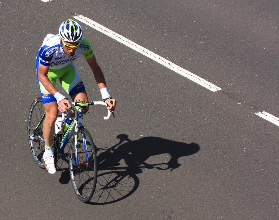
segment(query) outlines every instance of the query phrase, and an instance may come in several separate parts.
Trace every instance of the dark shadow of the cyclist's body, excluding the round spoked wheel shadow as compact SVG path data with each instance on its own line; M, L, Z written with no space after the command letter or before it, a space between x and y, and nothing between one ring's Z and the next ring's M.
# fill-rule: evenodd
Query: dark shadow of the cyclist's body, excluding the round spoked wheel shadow
M128 138L128 135L120 134L117 138L120 139L119 143L106 148L104 152L98 155L98 170L108 170L111 167L116 168L120 165L119 162L124 159L127 165L125 167L126 170L133 174L142 173L142 168L170 169L170 171L173 171L181 165L178 163L179 157L195 154L200 149L195 143L185 144L160 137L142 137L132 141ZM147 164L145 162L149 157L160 154L169 154L169 161L155 164L156 167L153 166L154 164ZM166 165L166 168L161 168L160 165Z

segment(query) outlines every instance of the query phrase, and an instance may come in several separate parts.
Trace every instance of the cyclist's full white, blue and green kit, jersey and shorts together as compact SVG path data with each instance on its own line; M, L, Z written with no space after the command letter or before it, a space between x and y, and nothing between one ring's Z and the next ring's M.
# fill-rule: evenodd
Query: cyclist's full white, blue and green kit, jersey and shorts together
M90 59L93 56L91 45L86 38L82 38L80 46L76 49L73 56L67 56L60 44L59 35L47 34L36 58L37 79L44 104L54 102L56 99L39 81L39 63L44 66L50 66L47 76L55 88L56 79L59 79L62 88L70 96L73 96L79 92L85 91L82 79L78 75L76 67L73 64L73 61L82 55L85 56L86 59Z

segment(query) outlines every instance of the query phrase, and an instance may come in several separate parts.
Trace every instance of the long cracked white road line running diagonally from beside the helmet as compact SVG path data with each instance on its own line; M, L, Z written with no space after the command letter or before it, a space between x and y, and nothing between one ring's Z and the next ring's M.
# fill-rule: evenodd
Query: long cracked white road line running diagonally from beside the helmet
M188 70L185 70L185 69L181 68L180 66L175 65L174 63L166 60L162 56L159 56L159 55L149 51L148 49L139 46L138 44L130 41L129 39L121 36L120 34L117 34L117 33L113 32L112 30L104 27L103 25L98 24L97 22L95 22L95 21L93 21L89 18L86 18L82 15L74 16L74 18L83 22L84 24L102 32L103 34L117 40L118 42L126 45L127 47L132 48L133 50L143 54L144 56L149 57L153 61L156 61L156 62L162 64L163 66L169 68L170 70L175 71L176 73L186 77L187 79L190 79L193 82L209 89L210 91L215 92L215 91L221 90L221 88L219 88L219 87L215 86L214 84L206 81L205 79L202 79L201 77L189 72Z

